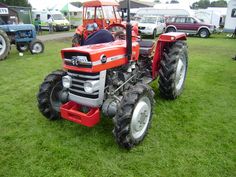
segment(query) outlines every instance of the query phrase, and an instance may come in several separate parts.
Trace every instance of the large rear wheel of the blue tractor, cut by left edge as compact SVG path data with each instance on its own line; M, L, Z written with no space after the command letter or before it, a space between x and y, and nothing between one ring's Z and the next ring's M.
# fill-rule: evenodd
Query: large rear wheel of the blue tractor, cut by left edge
M10 49L11 44L7 34L0 30L0 60L4 60L8 56Z

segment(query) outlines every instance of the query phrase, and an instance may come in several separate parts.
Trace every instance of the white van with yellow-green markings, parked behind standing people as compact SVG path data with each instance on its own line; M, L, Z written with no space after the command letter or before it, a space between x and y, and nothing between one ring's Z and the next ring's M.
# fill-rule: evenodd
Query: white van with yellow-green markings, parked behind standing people
M70 30L69 21L62 15L60 11L33 10L32 15L33 19L35 19L36 16L40 16L42 30L49 30L48 19L50 17L52 17L53 31Z

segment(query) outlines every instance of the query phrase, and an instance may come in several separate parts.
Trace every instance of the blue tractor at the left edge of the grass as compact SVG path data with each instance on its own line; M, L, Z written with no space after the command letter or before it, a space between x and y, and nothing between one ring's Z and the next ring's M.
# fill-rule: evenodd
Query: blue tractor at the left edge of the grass
M32 54L39 54L44 51L44 45L36 39L36 30L31 24L0 25L0 60L8 56L11 44L15 44L19 52L30 50Z

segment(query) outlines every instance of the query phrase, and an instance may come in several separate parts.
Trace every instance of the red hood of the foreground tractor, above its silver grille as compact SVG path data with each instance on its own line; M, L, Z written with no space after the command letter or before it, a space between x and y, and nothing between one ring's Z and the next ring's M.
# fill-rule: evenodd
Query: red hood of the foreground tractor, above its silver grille
M133 42L132 45L133 56L137 58L139 44ZM65 69L82 72L100 72L128 62L125 40L67 48L61 54Z

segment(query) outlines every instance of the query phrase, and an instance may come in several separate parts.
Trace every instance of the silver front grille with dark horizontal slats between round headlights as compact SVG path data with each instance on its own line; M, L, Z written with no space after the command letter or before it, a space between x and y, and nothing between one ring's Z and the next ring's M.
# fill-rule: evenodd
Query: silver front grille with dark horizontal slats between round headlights
M87 80L99 80L100 73L83 73L83 72L74 72L68 71L68 75L72 78L72 87L69 89L69 92L73 95L97 99L99 97L99 91L94 93L86 93L84 90L84 83Z

